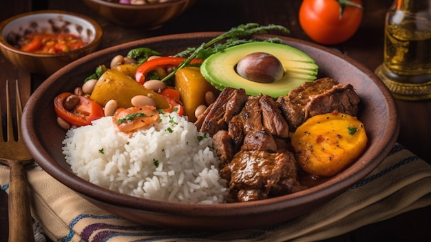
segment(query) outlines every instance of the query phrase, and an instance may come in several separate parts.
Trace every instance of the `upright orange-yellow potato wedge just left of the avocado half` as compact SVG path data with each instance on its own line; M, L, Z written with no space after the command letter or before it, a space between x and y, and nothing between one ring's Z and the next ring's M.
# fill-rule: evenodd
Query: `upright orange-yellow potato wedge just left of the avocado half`
M205 103L205 93L211 91L215 97L220 93L200 74L200 68L187 67L178 70L175 74L175 87L180 92L180 100L184 106L189 121L196 121L195 110Z

